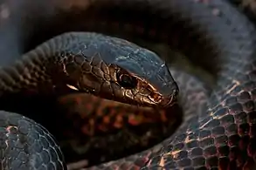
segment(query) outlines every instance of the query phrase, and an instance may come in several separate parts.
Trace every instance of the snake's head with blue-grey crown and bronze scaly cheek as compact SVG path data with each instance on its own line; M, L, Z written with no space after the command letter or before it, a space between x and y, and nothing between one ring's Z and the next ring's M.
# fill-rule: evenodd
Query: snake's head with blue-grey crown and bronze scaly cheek
M99 35L80 49L80 55L72 59L80 73L72 76L68 72L76 77L74 86L79 91L132 105L166 107L175 103L178 87L156 53Z

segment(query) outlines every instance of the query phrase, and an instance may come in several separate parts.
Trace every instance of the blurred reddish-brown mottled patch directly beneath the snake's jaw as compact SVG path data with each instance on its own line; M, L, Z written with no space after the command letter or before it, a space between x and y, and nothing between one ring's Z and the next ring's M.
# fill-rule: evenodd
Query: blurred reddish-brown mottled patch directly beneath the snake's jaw
M143 123L166 122L168 120L164 111L156 112L151 108L126 105L88 94L68 95L60 98L59 103L60 105L69 105L68 108L77 111L76 113L81 118L80 121L83 121L80 131L89 136L99 132L107 133L109 130L121 129L127 125L139 126Z

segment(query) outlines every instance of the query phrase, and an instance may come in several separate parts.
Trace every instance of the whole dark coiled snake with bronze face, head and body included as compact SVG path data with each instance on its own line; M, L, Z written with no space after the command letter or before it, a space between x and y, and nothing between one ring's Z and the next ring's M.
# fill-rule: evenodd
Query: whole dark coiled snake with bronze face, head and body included
M221 0L27 2L35 5L34 10L21 17L27 19L24 25L33 23L34 30L45 32L41 40L67 31L95 31L129 40L141 37L169 44L217 72L207 108L190 112L191 118L174 135L142 153L88 169L256 169L256 31L231 4ZM39 14L38 9L52 12ZM38 32L24 34L33 37ZM130 83L122 84L118 78L123 75ZM94 33L54 37L15 64L3 65L0 79L2 105L18 92L48 97L69 89L168 112L177 94L168 67L155 53ZM183 87L189 95L190 89ZM9 102L4 106L11 108ZM0 112L0 169L66 169L52 135L13 110ZM169 114L176 119L175 112Z

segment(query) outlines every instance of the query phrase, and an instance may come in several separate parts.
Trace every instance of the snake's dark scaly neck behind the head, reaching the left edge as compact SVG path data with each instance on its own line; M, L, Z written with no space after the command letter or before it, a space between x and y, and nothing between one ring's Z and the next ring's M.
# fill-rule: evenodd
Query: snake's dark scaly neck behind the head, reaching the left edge
M13 65L1 68L0 95L19 92L49 95L54 92L70 93L72 89L67 85L72 85L73 80L67 76L65 67L73 56L63 53L64 47L62 44L55 45L56 40L59 41L58 38L53 38L39 45Z

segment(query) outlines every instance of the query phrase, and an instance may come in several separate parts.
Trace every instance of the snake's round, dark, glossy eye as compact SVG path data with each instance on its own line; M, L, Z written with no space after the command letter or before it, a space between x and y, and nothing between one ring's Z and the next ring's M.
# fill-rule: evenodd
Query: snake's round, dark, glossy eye
M138 84L137 78L129 75L128 73L118 71L116 77L118 84L126 89L134 89Z

